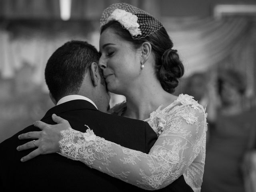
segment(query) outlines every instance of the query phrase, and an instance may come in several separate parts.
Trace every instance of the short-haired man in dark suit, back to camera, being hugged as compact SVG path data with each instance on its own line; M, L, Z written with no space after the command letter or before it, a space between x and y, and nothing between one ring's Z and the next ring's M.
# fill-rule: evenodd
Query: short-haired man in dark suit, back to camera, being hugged
M80 132L89 126L97 136L148 153L157 139L148 123L105 113L110 97L97 64L99 57L92 45L82 41L66 42L52 54L45 80L56 106L41 121L55 124L51 116L57 114ZM40 130L28 126L0 144L0 191L145 191L59 154L21 162L34 149L17 151L17 146L28 142L19 140L18 135L31 131ZM181 176L160 191L192 189Z

